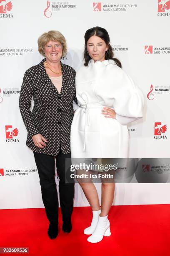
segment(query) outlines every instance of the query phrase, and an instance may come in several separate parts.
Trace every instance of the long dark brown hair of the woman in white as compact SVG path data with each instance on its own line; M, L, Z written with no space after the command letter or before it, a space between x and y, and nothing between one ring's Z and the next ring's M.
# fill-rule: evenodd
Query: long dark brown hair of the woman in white
M115 61L115 63L117 64L118 67L122 67L121 62L116 59L113 58L114 54L113 54L113 50L112 50L112 46L110 45L110 37L109 34L107 32L107 30L105 28L101 28L101 27L94 27L94 28L90 28L85 32L85 51L84 51L84 59L85 59L85 66L88 66L88 62L90 61L91 57L89 56L88 52L87 52L87 41L89 40L89 38L91 36L98 36L100 37L102 40L105 41L105 43L108 45L108 49L105 52L105 59L112 59Z

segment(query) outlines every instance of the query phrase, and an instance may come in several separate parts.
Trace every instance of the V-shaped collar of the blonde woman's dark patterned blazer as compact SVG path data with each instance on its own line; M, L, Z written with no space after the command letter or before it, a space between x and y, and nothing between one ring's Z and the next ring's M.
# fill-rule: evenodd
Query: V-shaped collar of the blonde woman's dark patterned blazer
M45 60L46 59L42 59L42 61L37 65L38 72L40 73L42 80L45 82L45 86L50 87L55 93L59 95L57 88L54 86L54 84L52 83L50 77L48 76L45 70L45 67L44 67ZM67 65L63 64L61 61L60 61L60 64L61 64L61 72L62 72L62 87L61 87L60 95L63 96L65 92L69 89L67 84L68 67Z

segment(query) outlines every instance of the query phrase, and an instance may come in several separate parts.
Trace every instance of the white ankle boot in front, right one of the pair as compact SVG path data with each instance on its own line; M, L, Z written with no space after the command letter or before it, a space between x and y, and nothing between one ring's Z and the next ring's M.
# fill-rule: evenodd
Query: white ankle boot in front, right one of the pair
M108 215L107 215L108 216ZM87 241L90 243L98 243L102 240L103 236L110 236L110 222L107 219L107 216L100 217L97 222L94 233L87 238Z

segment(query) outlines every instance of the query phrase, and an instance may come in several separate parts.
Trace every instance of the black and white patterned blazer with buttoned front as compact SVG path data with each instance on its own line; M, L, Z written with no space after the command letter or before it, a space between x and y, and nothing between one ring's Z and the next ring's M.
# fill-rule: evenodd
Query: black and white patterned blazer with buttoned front
M60 144L63 154L70 153L70 128L72 123L73 100L75 96L75 70L65 64L62 67L62 88L58 93L45 71L43 59L40 64L25 72L20 91L20 112L28 131L26 145L35 152L55 156ZM30 111L32 96L34 107ZM40 133L48 142L38 148L32 136Z

